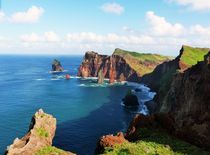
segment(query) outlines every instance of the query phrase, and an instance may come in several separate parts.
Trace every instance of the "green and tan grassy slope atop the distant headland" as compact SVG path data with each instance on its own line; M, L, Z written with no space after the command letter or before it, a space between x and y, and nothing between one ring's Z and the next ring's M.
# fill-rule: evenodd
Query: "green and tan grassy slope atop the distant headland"
M130 67L141 76L151 73L157 64L170 59L170 57L161 56L158 54L143 54L121 49L116 49L113 55L122 56Z

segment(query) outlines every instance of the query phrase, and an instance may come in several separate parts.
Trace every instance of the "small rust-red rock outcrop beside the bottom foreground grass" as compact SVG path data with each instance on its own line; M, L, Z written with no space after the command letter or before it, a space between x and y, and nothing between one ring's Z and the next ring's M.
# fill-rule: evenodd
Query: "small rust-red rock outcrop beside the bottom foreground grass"
M97 143L95 153L96 154L103 153L106 147L113 147L116 144L123 144L125 142L128 141L124 138L122 132L119 132L116 136L113 135L103 136L100 138L100 140Z

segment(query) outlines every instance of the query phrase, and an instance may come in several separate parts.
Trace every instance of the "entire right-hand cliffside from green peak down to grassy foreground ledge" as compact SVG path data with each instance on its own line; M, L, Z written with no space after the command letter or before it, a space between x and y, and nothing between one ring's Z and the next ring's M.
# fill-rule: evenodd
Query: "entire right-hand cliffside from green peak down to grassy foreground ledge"
M157 90L155 113L137 115L124 134L129 142L105 147L104 154L209 154L201 149L210 148L208 51L183 46L177 58L145 75L141 81Z

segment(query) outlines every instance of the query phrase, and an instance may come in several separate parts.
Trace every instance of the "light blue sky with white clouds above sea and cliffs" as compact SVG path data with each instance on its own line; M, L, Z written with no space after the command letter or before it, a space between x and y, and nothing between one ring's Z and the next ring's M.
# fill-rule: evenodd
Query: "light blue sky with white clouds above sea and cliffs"
M0 0L0 54L176 56L210 47L209 0Z

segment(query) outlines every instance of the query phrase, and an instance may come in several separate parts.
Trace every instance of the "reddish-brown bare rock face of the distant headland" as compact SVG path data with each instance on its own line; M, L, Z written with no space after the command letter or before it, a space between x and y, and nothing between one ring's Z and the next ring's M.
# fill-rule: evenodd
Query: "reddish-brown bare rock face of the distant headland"
M100 70L102 70L104 77L109 78L111 82L114 80L137 81L139 79L136 71L122 57L117 55L99 55L95 52L87 52L85 54L78 76L98 77Z

